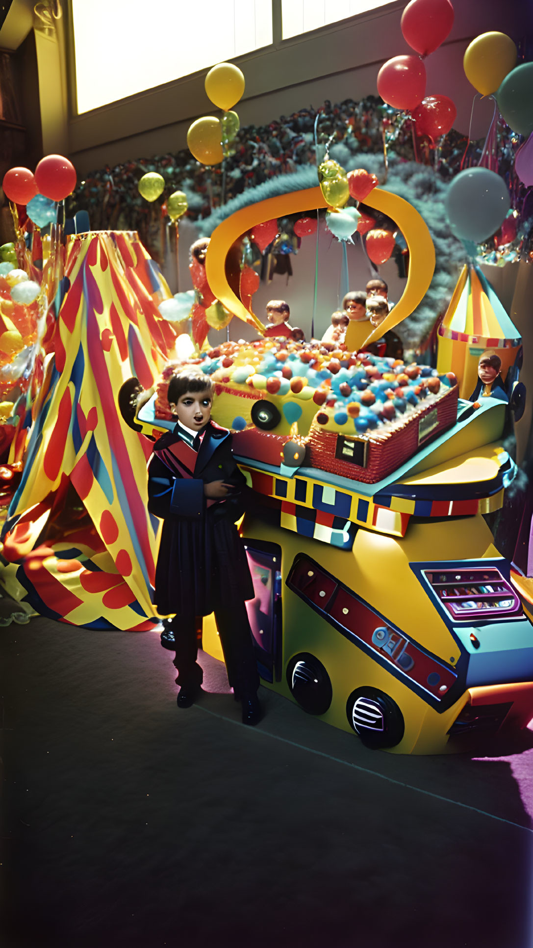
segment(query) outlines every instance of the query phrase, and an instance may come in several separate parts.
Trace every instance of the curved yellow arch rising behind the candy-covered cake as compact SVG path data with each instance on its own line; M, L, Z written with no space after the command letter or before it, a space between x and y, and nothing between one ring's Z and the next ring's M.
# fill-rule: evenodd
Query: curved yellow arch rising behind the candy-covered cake
M425 296L435 270L435 247L418 210L397 194L382 191L381 188L371 191L364 199L364 204L381 210L398 224L409 248L409 273L400 301L379 329L373 330L370 335L365 335L368 332L367 322L349 324L346 332L346 346L352 351L361 349L365 342L380 338L387 329L392 329L402 319L410 316ZM230 246L247 230L251 230L264 221L304 210L328 207L320 188L307 188L305 191L291 191L288 194L269 197L266 201L259 201L257 204L250 204L222 221L222 224L213 231L205 257L205 275L217 299L239 319L250 322L262 332L264 326L260 319L251 310L246 309L227 282L225 259Z

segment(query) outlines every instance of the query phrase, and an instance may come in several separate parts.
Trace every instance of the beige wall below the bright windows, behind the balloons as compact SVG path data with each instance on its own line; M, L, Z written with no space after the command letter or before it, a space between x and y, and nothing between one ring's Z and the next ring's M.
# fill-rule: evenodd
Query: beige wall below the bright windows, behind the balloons
M404 6L402 0L391 3L374 13L238 58L236 62L246 79L246 91L237 106L240 124L263 124L311 104L318 106L325 99L358 100L376 94L382 63L410 52L400 31ZM446 44L427 59L426 67L428 95L440 93L455 101L455 127L459 131L468 132L474 91L462 68L466 47L472 37L489 29L520 37L524 34L526 7L526 0L454 3L452 33ZM105 68L102 60L100 63L100 68ZM204 92L205 71L73 116L68 128L69 150L80 173L106 163L113 165L128 158L185 148L190 122L213 112ZM491 115L489 100L478 104L473 137L484 134Z

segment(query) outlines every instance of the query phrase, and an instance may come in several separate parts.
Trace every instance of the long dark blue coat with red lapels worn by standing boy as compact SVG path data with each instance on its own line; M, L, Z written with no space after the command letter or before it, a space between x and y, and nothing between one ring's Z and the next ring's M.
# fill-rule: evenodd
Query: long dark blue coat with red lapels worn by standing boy
M255 595L235 526L247 488L231 435L208 422L198 454L191 444L176 425L155 443L148 468L149 510L163 520L154 598L163 615L208 615ZM204 483L221 479L235 491L223 501L206 501Z

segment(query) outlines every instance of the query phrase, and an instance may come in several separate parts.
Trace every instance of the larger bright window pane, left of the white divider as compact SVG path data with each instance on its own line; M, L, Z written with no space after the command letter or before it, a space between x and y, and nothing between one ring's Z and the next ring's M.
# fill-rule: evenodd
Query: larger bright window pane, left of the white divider
M272 43L269 0L72 0L78 112Z

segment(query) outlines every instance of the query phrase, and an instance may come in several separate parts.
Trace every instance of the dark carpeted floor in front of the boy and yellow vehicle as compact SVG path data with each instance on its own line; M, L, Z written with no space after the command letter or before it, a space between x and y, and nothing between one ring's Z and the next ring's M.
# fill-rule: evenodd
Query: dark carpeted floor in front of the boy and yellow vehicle
M530 948L533 733L366 750L157 633L0 629L3 948ZM225 692L225 693L224 693Z

